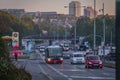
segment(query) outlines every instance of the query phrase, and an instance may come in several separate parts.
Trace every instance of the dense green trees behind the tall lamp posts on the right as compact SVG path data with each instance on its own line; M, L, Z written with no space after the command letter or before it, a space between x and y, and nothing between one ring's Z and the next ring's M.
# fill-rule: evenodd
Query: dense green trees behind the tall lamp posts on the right
M115 44L115 17L111 17L109 15L105 15L105 33L106 33L106 44L109 44L111 41L111 33L112 33L112 40ZM84 41L89 41L90 45L93 46L93 34L94 34L94 19L89 19L87 17L80 18L77 21L76 24L76 31L77 36L89 36ZM72 28L72 31L74 33L74 28ZM96 35L99 35L103 37L103 17L97 17L96 18ZM102 39L98 36L96 36L96 44L100 45Z

